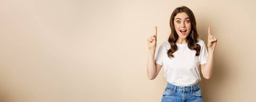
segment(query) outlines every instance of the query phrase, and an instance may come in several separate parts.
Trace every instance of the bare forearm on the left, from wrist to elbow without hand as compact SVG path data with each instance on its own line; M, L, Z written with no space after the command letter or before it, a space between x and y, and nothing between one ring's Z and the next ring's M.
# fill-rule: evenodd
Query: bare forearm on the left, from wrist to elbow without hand
M156 77L156 63L154 60L155 56L155 49L150 50L148 53L148 68L147 68L147 74L148 74L148 79L152 80Z

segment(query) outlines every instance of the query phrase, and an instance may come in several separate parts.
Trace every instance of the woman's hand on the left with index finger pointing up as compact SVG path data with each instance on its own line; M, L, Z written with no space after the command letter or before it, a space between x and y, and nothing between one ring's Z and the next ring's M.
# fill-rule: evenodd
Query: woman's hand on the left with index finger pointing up
M148 38L148 50L156 50L156 40L157 40L158 28L156 27L156 32L150 38Z

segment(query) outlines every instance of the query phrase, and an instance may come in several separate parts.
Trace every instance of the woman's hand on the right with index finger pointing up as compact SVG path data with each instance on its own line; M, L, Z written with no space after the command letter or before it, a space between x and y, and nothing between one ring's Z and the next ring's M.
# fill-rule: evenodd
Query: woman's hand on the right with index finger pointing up
M211 34L211 28L208 28L208 52L214 52L217 44L217 38Z

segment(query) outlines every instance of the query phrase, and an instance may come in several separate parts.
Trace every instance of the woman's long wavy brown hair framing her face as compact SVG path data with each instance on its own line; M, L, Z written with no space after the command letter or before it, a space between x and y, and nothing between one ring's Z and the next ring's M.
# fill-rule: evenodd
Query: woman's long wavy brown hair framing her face
M191 11L191 9L189 9L188 7L182 6L182 7L177 7L176 9L174 9L174 11L172 12L172 15L170 16L171 32L170 32L170 37L168 38L168 42L170 43L170 50L168 50L168 52L167 52L169 58L174 58L173 53L178 50L176 42L177 42L179 36L174 28L174 17L178 13L183 13L183 12L187 13L187 15L189 16L189 20L191 22L191 32L189 33L189 36L187 36L187 38L186 38L187 45L188 45L189 49L196 51L195 56L199 56L199 54L200 54L201 46L199 44L197 44L197 42L198 42L197 39L199 38L199 35L197 34L195 16L194 16L193 12Z

